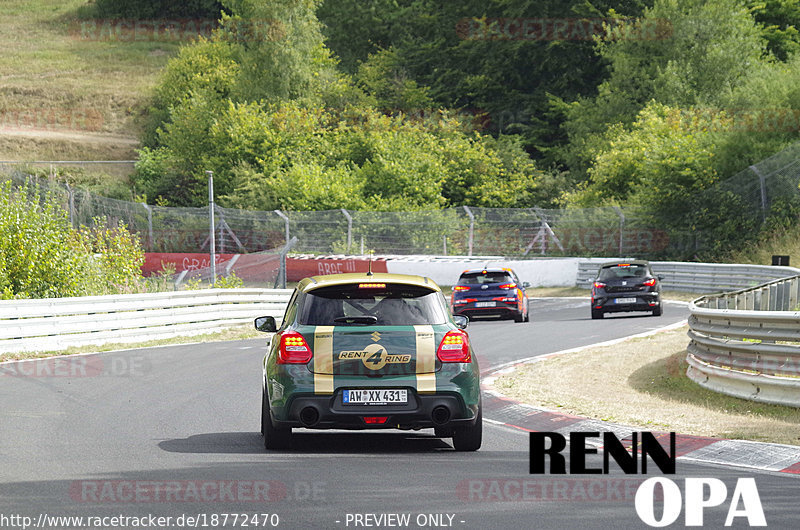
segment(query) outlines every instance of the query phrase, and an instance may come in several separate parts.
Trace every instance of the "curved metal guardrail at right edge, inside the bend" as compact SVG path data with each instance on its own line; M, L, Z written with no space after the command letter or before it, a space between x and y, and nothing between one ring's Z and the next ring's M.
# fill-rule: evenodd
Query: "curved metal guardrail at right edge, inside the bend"
M800 407L800 276L689 306L687 375L710 390Z

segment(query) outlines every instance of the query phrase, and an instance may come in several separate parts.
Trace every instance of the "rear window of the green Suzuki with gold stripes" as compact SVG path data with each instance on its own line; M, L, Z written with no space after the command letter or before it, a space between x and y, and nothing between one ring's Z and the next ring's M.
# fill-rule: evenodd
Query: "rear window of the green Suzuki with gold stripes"
M298 322L312 326L413 326L444 324L447 318L444 298L438 291L388 283L315 289L303 299Z

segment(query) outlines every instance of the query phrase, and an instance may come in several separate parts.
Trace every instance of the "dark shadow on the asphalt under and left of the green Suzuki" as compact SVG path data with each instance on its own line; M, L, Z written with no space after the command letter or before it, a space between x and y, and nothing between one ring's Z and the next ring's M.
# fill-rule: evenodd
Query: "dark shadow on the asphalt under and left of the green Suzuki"
M158 447L170 453L196 454L260 454L264 439L257 432L219 432L194 434L159 442ZM312 432L297 430L292 434L288 453L427 453L453 450L452 446L432 434L422 432Z

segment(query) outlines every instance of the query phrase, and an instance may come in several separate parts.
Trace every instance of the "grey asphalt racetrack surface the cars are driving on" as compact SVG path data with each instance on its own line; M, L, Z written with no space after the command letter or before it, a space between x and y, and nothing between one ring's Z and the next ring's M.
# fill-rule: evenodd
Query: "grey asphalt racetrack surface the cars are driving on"
M576 299L534 300L532 308L530 323L470 324L484 371L645 332L687 314L684 305L668 304L660 318L593 321L586 301ZM411 528L437 522L494 529L645 527L633 494L646 477L529 475L528 434L497 425L488 414L476 453L456 453L430 431L298 431L293 450L267 453L258 433L263 343L0 365L0 518L276 513L281 528L364 528L354 525L355 514L396 513L410 514ZM597 461L589 458L588 465L598 467ZM685 477L722 479L729 499L737 478L754 477L769 526L796 527L796 475L681 460L677 471L670 478L681 487ZM269 481L266 501L247 500L254 496L250 481ZM219 488L227 494L220 496ZM241 499L231 500L231 491ZM706 510L706 526L721 527L726 513L727 502ZM676 524L683 526L683 516ZM740 518L734 526L746 524Z

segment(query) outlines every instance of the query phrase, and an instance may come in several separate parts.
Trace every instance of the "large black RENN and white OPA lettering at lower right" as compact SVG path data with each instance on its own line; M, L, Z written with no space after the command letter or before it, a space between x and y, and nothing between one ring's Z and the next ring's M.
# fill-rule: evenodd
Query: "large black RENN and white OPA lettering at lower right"
M661 435L659 435L661 436ZM622 471L626 475L646 475L660 472L662 475L675 474L675 433L669 433L664 447L656 434L634 432L630 440L619 439L613 432L571 432L569 436L558 432L530 433L530 473L532 475L608 475ZM600 464L590 465L588 455L598 455L596 445L602 443ZM632 449L626 449L628 444ZM567 464L566 455L569 455ZM590 500L588 491L593 491L594 500L603 500L603 489L599 484L579 484L582 495ZM627 482L630 485L630 482ZM569 486L570 484L563 484ZM536 491L535 483L528 486L527 494L547 498L542 491ZM467 484L468 496L488 495L485 484ZM491 487L491 486L489 486ZM525 484L497 484L493 495L523 496ZM573 489L575 489L573 487ZM484 493L486 491L487 493ZM531 493L533 491L533 493ZM630 492L630 490L627 490ZM479 493L480 492L480 493ZM550 495L553 495L552 493ZM576 494L573 492L572 497ZM650 527L664 527L674 524L684 513L684 525L703 526L706 508L728 503L724 526L734 522L746 522L749 526L766 526L767 521L761 505L755 479L739 478L733 492L728 496L728 487L716 478L685 478L675 481L666 476L655 476L636 485L633 497L634 507L639 519ZM658 501L658 503L656 502ZM717 521L714 521L717 523ZM723 523L723 521L719 521Z

